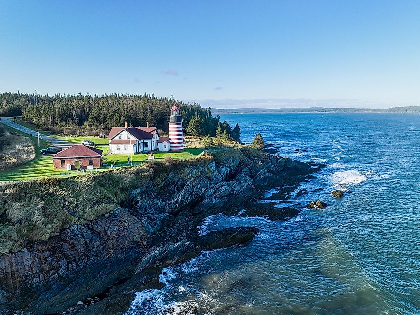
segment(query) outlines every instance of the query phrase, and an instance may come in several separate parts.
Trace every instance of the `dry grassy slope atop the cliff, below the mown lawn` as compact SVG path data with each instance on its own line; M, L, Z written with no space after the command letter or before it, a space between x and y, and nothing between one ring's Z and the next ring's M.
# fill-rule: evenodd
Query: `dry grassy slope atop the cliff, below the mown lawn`
M179 176L207 165L208 155L188 161L165 160L70 178L0 183L0 255L46 240L73 224L85 224L129 199L134 189L162 185L169 172Z

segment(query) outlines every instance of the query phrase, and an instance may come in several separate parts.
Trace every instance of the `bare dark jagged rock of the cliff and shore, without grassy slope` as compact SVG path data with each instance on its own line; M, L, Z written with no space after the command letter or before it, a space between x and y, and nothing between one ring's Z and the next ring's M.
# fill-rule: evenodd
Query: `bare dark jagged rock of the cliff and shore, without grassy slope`
M255 227L237 227L200 235L197 226L204 218L240 212L271 220L296 216L298 209L256 200L273 187L297 188L323 167L250 149L200 159L158 162L162 173L131 187L110 213L1 256L0 312L123 314L134 292L162 287L162 268L202 250L244 244L258 233Z

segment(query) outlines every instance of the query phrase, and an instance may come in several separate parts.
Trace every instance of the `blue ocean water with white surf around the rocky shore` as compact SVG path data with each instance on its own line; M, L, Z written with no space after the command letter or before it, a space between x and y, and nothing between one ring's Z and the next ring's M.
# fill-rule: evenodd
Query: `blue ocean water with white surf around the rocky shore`
M196 305L209 315L420 314L420 115L225 114L241 139L261 132L281 155L328 166L304 183L327 209L286 222L208 217L200 233L257 226L249 244L167 268L162 290L138 292L127 314ZM299 151L296 151L299 150ZM352 193L335 199L330 192ZM273 191L267 192L266 196Z

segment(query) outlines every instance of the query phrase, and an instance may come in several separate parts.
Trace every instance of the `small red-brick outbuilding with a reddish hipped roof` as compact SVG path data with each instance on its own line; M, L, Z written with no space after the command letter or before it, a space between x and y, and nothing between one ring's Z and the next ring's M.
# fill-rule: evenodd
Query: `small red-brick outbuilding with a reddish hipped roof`
M87 169L102 166L102 150L78 144L53 155L54 169Z

